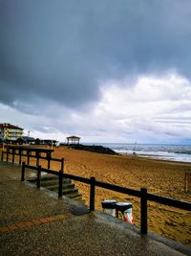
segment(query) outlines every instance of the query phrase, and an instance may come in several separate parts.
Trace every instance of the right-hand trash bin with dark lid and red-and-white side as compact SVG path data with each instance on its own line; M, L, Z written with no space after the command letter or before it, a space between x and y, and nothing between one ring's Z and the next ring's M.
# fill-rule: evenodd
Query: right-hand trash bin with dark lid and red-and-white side
M131 202L117 202L116 209L117 212L122 213L123 221L127 221L131 224L134 224L133 211L132 211L132 203Z

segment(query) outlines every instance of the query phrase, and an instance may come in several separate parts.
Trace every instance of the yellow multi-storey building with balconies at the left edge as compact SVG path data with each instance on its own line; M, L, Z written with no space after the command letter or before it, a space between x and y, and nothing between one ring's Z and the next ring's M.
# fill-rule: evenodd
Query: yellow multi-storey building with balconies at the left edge
M23 128L9 123L0 124L0 139L16 141L18 138L23 138Z

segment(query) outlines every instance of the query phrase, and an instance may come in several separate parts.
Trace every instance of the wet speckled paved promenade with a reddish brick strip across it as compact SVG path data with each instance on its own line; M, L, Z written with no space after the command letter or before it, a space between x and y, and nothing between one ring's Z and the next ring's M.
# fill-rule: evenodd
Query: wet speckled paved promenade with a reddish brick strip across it
M45 189L20 181L20 167L0 162L0 255L191 255L166 240ZM164 243L163 243L164 242ZM167 244L165 244L167 243Z

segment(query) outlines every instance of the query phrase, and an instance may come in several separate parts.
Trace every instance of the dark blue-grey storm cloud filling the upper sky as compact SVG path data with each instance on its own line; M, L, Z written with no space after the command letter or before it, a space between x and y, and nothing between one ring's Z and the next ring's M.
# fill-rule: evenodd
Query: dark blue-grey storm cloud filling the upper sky
M190 24L188 0L0 0L0 102L78 107L107 79L190 79Z

